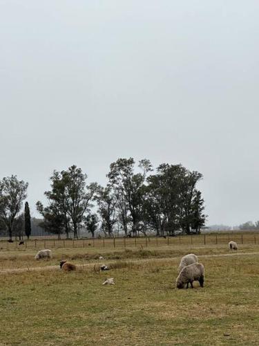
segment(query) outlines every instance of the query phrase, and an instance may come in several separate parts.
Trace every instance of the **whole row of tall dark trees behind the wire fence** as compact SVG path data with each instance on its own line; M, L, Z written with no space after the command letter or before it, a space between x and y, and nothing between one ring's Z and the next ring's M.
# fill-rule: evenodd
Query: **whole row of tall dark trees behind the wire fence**
M80 237L82 229L93 237L98 228L105 237L115 233L133 237L147 232L175 235L178 230L200 233L204 226L199 172L168 163L154 171L147 159L136 165L133 158L119 158L111 163L106 177L106 186L101 186L88 184L87 175L76 165L55 170L50 176L50 190L44 192L46 203L36 203L42 216L40 226L58 237L73 233L74 238ZM10 239L17 228L29 233L28 202L21 212L27 189L28 183L17 176L0 181L0 225L8 230Z

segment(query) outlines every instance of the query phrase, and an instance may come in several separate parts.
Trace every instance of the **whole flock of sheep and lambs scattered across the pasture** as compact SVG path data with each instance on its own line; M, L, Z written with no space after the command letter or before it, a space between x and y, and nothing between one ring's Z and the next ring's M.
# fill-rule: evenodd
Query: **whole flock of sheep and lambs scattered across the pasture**
M238 244L236 242L229 242L229 249L230 250L238 250ZM41 250L35 255L35 260L40 260L41 258L52 258L52 252L51 250ZM103 260L104 257L99 257L99 259ZM60 262L60 268L62 271L75 271L76 266L75 264L66 262L65 260L62 260ZM102 265L100 267L100 270L107 271L109 268L108 266ZM194 253L189 253L189 255L185 255L182 257L182 260L180 262L180 265L178 267L178 277L176 279L176 287L178 289L184 289L184 286L186 286L186 289L188 289L189 284L191 284L191 288L193 289L193 281L198 281L200 283L200 286L203 287L204 284L204 266L201 263L198 263L198 257L194 255ZM113 277L110 279L106 279L106 281L103 284L114 284Z

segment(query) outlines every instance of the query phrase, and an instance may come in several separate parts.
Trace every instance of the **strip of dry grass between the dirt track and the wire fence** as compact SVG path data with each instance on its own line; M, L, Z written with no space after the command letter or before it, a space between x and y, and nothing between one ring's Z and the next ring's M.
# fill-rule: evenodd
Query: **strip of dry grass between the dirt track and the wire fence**
M115 260L137 260L142 258L166 258L182 257L186 253L195 253L196 255L217 255L222 253L231 253L227 244L208 244L189 245L181 244L175 246L161 246L151 248L52 248L51 260L35 260L34 257L38 250L27 249L24 251L0 251L0 271L9 268L30 268L57 266L61 260L70 260L75 264L95 264L107 263ZM258 252L259 244L239 245L238 253ZM99 260L100 256L104 260Z

